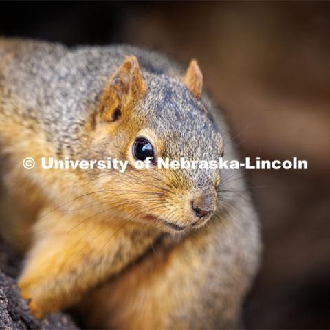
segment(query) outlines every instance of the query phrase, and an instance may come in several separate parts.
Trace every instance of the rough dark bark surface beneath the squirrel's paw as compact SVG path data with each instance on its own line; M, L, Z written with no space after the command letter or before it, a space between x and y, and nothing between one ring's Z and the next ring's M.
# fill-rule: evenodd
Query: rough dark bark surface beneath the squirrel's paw
M30 314L28 301L21 298L15 279L20 263L21 257L0 239L0 329L78 329L64 313L50 314L43 320Z

